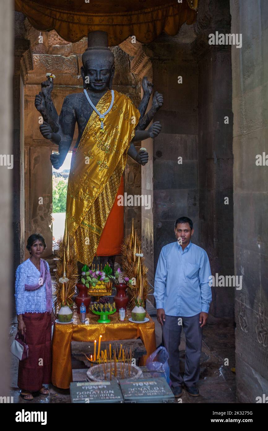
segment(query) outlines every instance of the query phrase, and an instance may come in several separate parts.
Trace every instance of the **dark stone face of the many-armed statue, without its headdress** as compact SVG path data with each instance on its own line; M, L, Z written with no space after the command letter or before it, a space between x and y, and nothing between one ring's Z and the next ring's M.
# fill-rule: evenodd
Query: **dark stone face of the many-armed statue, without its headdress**
M84 82L92 91L108 90L113 74L111 63L105 60L88 60L84 66Z

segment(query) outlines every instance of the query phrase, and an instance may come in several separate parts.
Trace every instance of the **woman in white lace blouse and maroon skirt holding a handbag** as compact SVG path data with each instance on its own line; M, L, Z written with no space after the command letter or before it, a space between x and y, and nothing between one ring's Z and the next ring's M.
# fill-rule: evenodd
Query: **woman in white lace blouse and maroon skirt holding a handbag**
M18 365L18 387L25 400L33 400L31 392L49 394L43 383L51 382L51 326L55 315L49 265L41 259L46 248L43 236L32 234L26 248L30 258L18 266L15 282L18 332L28 344L28 358Z

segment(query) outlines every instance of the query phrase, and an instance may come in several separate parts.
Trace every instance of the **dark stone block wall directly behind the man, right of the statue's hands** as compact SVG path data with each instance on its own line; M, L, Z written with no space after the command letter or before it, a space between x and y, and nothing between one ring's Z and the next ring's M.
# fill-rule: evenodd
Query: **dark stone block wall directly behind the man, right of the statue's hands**
M184 25L176 37L160 36L145 47L152 63L154 90L164 97L164 105L154 117L162 124L161 133L153 142L142 144L151 155L148 167L142 168L142 193L151 194L151 209L142 208L142 239L152 285L160 250L174 241L174 222L179 216L193 220L193 242L198 238L198 70L191 52L194 37L193 28ZM182 84L178 83L179 76ZM182 157L182 164L178 164L178 157Z

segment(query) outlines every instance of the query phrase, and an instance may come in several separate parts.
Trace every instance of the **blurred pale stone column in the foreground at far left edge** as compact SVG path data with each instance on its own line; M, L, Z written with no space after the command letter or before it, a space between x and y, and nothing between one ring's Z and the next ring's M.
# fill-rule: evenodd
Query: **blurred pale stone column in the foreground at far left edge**
M1 115L0 136L1 154L13 153L12 149L12 73L13 73L13 2L0 0L0 76L1 76ZM10 220L12 220L12 169L0 166L1 205L0 205L0 397L9 395L9 340L10 305L14 295L12 275L15 263L12 259L13 237ZM20 263L20 262L18 262Z

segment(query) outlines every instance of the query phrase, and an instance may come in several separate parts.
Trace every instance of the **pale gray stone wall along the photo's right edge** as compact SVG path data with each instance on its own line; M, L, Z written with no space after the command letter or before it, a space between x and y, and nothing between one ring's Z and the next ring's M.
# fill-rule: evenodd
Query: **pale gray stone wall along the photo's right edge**
M234 112L234 265L243 276L235 293L237 397L268 395L268 167L256 155L268 140L268 3L231 0Z

